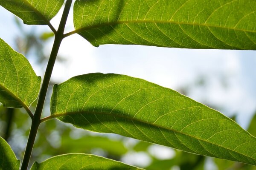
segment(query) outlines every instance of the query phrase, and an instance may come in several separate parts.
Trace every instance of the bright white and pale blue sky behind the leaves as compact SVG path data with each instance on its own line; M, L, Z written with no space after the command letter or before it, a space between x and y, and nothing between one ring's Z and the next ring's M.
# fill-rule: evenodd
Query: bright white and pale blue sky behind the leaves
M66 32L72 31L72 10ZM61 14L51 23L58 28ZM19 34L14 15L0 7L0 38L12 47ZM25 26L38 32L47 26ZM47 44L50 52L52 41ZM101 45L93 47L74 34L63 40L59 54L67 61L55 64L52 79L63 82L73 76L93 72L126 74L181 91L198 102L218 108L221 113L237 114L237 122L246 128L256 111L256 51L162 48L142 45ZM41 66L30 60L39 76ZM198 85L198 83L204 85Z

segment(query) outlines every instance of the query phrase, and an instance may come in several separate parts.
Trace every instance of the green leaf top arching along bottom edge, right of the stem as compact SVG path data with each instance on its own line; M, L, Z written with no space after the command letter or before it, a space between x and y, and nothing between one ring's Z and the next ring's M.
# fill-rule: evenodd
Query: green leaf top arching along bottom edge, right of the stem
M100 156L72 153L54 156L42 163L35 162L31 170L142 170Z

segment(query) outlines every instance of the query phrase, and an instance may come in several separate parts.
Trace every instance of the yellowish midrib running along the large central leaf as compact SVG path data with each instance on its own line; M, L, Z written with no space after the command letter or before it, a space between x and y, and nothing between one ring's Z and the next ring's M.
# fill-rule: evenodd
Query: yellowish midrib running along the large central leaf
M166 128L166 127L163 127L163 126L160 126L160 125L155 125L155 124L150 123L150 122L145 122L145 121L143 121L143 120L141 120L141 119L135 119L135 118L131 118L131 117L125 117L125 116L122 116L122 115L113 115L113 114L105 113L105 112L77 111L77 112L67 112L67 113L55 113L55 114L52 114L50 117L51 117L51 118L58 118L58 117L61 117L61 116L69 116L69 115L72 115L72 114L84 114L84 113L86 113L86 114L89 113L89 114L108 115L108 116L119 117L119 118L123 118L123 119L130 119L131 121L137 121L137 122L144 123L144 124L147 124L147 125L151 125L151 126L154 126L154 127L158 127L158 128L162 128L162 129L166 129L166 130L171 130L171 131L173 131L173 132L175 132L175 133L180 133L181 135L189 136L189 137L192 137L192 138L194 138L194 139L197 139L197 140L200 140L200 141L203 141L203 142L207 142L207 143L209 143L209 144L213 144L213 145L216 145L216 146L218 146L218 147L222 147L222 148L224 148L224 149L227 149L227 150L230 150L230 151L239 153L239 152L237 152L236 150L232 150L232 149L230 149L230 148L223 147L223 146L221 146L221 145L218 145L218 144L215 144L215 143L206 141L206 140L204 140L204 139L196 138L195 136L191 136L191 135L188 135L188 134L186 134L186 133L182 133L182 132L177 131L177 130L175 130L175 129L169 129L169 128ZM249 133L249 134L250 134L250 133ZM251 135L251 136L252 136L252 135ZM254 137L254 136L252 136L252 137ZM255 138L255 137L254 137L254 138ZM241 155L243 155L243 156L245 156L245 157L251 158L251 159L253 159L253 160L256 160L255 158L253 158L253 157L251 157L251 156L244 155L243 153L239 153L239 154L241 154ZM217 157L217 156L216 156L216 157ZM233 156L232 156L232 157L233 157ZM219 157L217 157L217 158L219 158ZM234 158L234 157L233 157L233 158ZM234 158L234 159L236 159L236 158Z

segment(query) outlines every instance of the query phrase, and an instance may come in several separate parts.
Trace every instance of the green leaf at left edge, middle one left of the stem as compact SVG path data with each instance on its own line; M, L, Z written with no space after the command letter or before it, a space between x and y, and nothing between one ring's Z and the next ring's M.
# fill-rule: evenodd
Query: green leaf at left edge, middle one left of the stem
M0 102L5 107L27 109L38 96L41 77L29 61L0 39Z

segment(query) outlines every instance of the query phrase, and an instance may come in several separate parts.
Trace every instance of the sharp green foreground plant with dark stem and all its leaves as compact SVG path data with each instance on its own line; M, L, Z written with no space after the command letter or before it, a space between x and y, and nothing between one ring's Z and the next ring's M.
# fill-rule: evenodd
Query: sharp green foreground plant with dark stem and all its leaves
M9 145L0 139L2 169L26 170L39 125L53 118L86 130L117 133L190 153L256 165L256 138L236 122L176 91L125 75L92 73L54 85L51 115L41 118L52 69L65 37L77 33L94 46L138 44L255 50L256 1L76 0L75 30L64 34L71 3L72 0L66 1L55 30L49 21L64 0L0 1L25 24L48 25L55 34L42 85L27 59L0 39L0 102L9 108L25 108L32 119L21 167ZM32 113L29 106L37 97ZM33 170L82 167L139 169L77 153L32 165Z

